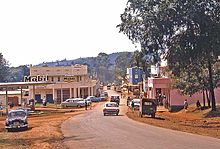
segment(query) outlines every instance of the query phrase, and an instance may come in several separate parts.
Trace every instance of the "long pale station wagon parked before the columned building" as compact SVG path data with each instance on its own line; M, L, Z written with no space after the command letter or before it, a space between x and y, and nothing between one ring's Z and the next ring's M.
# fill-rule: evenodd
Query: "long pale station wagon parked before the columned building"
M88 104L88 102L87 102L87 104ZM70 98L70 99L67 99L66 101L63 101L61 103L62 108L84 107L84 106L85 106L85 99L83 99L83 98Z

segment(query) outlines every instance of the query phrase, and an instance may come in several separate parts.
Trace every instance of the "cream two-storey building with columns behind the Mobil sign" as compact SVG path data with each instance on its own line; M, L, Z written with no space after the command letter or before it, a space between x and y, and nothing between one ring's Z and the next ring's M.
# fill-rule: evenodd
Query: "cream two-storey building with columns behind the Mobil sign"
M88 76L86 65L30 66L30 76L25 76L24 81L53 83L29 87L30 99L42 102L42 99L46 98L51 103L61 103L68 98L96 95L98 86L98 82Z

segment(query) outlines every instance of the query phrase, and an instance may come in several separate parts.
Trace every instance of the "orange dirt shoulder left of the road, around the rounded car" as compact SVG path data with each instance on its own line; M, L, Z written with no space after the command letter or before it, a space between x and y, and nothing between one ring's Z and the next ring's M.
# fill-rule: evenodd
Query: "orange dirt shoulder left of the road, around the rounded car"
M29 129L21 132L6 132L4 117L0 118L0 148L65 148L60 125L66 119L84 112L84 109L37 109L41 113L28 117Z

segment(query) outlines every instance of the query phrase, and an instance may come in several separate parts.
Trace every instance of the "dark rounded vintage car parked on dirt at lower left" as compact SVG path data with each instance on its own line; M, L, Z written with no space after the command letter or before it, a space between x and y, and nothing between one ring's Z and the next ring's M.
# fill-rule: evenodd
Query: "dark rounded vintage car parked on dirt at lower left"
M5 120L5 128L10 130L28 129L27 112L19 110L11 110Z

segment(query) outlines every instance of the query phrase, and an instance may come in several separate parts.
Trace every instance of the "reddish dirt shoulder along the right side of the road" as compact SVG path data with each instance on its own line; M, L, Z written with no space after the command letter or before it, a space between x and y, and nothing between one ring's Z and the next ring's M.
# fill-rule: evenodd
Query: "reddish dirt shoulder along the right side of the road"
M218 110L213 113L210 109L200 111L190 107L187 111L176 113L157 112L155 119L148 116L141 118L138 111L133 113L131 110L126 115L142 123L220 139L220 109Z

